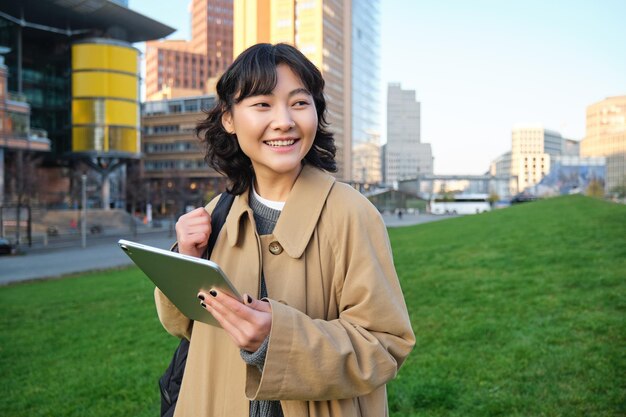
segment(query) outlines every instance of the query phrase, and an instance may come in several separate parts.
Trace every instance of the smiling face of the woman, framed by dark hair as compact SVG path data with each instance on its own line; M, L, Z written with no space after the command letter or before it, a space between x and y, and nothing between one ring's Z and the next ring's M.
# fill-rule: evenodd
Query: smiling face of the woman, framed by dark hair
M295 181L313 145L317 112L313 96L289 66L278 65L276 73L271 94L247 97L233 105L222 124L237 135L257 179Z

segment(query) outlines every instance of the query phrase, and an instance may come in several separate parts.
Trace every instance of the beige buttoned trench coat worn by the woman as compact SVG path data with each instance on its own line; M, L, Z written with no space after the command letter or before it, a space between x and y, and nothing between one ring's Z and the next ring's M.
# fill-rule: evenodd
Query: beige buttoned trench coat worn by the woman
M282 252L269 251L273 242ZM242 294L259 294L263 268L272 306L265 367L247 366L224 330L191 323L157 289L165 329L191 338L176 417L248 417L249 400L261 399L281 400L285 417L388 414L385 384L415 336L386 228L367 199L305 165L274 233L258 236L244 193L211 259Z

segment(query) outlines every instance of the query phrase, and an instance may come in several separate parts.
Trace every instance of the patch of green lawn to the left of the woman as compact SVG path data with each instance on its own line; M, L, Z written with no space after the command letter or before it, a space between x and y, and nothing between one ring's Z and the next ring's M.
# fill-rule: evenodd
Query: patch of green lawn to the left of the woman
M0 416L156 416L177 339L138 269L0 288Z

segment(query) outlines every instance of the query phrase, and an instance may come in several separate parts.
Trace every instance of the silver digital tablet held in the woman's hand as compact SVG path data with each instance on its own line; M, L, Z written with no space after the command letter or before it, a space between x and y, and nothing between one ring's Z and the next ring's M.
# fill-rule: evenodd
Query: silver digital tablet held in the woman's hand
M200 291L217 288L243 301L215 262L124 239L117 243L172 304L191 320L219 326L211 313L200 305Z

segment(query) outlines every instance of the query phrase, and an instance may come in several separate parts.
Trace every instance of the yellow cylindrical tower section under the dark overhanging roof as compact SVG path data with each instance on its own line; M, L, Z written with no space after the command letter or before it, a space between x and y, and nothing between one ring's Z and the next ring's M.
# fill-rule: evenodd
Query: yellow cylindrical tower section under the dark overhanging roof
M138 157L139 50L111 39L72 45L72 152Z

